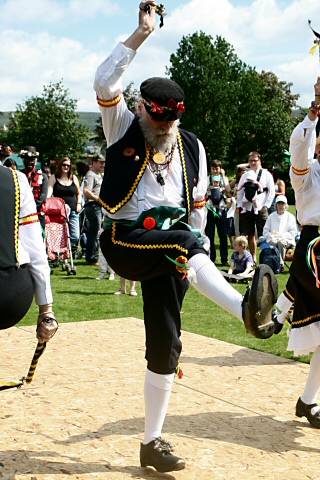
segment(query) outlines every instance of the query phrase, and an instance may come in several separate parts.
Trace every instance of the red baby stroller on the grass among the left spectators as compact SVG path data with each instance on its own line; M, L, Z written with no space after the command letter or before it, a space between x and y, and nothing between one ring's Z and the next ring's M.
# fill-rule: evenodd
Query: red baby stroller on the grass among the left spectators
M68 210L69 207L62 198L51 197L46 200L44 208L46 248L51 272L53 268L61 265L67 275L76 275L69 235Z

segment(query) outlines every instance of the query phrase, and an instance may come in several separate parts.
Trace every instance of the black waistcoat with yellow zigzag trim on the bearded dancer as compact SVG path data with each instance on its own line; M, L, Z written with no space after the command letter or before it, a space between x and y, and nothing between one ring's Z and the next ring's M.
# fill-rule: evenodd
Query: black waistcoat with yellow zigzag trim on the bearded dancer
M199 178L199 144L193 133L182 129L179 132L184 207L189 215L193 208L193 187ZM124 136L106 152L100 199L108 213L116 213L130 200L147 166L145 139L136 117Z

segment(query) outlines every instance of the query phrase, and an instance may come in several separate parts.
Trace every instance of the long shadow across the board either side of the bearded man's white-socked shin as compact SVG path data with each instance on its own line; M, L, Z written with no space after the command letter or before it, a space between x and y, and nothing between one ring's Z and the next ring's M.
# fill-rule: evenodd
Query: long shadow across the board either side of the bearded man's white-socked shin
M279 421L271 415L248 416L239 412L203 412L195 415L168 415L165 430L168 433L203 438L233 445L244 445L264 452L290 451L320 453L319 448L301 445L303 426L298 421ZM69 445L88 442L109 435L139 435L144 429L144 418L118 420L103 425L99 430L70 436L57 444Z

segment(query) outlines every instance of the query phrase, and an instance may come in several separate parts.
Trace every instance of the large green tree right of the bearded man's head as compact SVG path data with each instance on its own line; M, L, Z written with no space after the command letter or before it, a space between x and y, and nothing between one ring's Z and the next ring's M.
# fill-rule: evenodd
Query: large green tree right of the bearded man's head
M222 37L203 32L183 37L167 74L186 95L182 126L202 140L208 159L227 168L259 150L267 163L282 155L296 96L270 72L241 61Z

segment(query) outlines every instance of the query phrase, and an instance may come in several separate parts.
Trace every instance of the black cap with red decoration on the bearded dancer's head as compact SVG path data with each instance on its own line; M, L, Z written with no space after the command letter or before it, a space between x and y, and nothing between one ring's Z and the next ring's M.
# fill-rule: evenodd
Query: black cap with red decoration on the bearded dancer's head
M146 111L154 120L174 121L185 111L184 92L169 78L148 78L140 85L140 93Z

